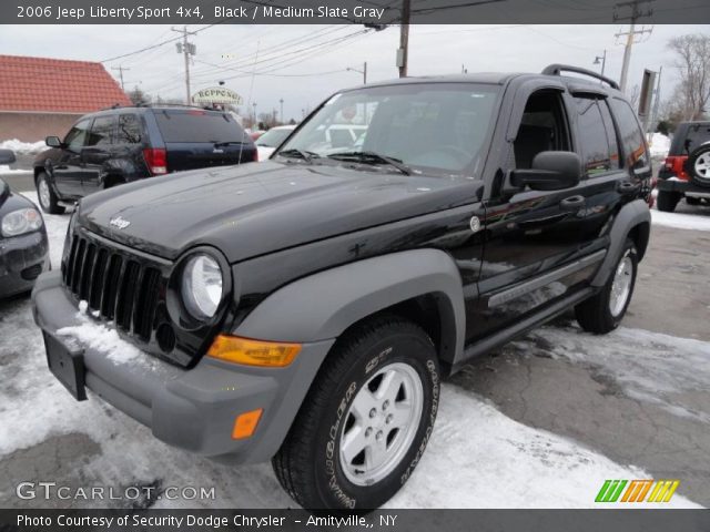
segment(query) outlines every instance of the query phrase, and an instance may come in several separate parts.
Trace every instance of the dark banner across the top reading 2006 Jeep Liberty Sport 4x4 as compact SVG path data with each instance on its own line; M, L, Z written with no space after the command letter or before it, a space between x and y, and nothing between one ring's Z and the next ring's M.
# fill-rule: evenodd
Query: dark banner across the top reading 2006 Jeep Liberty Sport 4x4
M3 0L3 24L710 23L708 0ZM406 16L405 16L406 18Z

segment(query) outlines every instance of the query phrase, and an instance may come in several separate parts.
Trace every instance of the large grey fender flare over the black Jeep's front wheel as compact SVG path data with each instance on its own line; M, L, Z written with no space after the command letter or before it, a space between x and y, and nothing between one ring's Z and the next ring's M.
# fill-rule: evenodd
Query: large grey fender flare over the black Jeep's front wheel
M266 297L234 334L274 341L333 339L372 314L425 295L435 297L440 315L439 355L453 362L464 350L464 291L456 263L439 249L366 258L295 280Z

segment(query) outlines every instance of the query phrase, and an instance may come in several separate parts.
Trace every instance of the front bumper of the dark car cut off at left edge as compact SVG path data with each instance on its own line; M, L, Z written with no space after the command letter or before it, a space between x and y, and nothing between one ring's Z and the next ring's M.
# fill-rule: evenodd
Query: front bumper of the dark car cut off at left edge
M31 290L38 275L50 268L48 252L43 231L0 237L0 297Z

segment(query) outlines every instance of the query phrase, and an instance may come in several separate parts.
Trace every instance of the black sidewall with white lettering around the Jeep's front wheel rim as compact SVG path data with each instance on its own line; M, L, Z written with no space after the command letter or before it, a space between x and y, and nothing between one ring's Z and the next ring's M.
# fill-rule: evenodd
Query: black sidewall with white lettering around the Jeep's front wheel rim
M408 364L422 379L424 402L419 427L412 447L388 477L376 484L357 485L345 477L339 461L343 423L357 391L377 370L393 362ZM439 379L436 352L424 335L400 331L377 340L359 355L336 387L315 438L315 481L328 508L374 509L399 491L432 436L439 403Z

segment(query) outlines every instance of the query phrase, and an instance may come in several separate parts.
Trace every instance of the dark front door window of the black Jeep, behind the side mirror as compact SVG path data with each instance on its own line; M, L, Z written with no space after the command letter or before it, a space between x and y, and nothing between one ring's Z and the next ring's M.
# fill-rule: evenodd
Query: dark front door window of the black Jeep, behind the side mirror
M516 168L530 168L540 152L570 149L564 109L556 91L540 91L530 96L513 144Z

